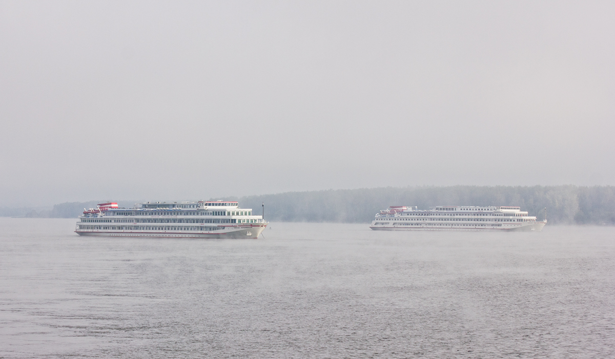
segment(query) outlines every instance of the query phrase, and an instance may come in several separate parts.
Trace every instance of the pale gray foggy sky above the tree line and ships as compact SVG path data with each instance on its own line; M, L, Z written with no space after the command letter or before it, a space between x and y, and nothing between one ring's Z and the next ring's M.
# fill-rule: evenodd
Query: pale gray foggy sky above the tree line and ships
M0 200L615 184L615 2L0 2Z

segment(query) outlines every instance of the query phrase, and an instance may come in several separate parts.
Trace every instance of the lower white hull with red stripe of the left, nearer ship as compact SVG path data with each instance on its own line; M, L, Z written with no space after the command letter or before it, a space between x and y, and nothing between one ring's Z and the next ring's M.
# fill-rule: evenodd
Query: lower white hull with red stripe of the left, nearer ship
M156 231L156 230L76 230L80 236L105 237L162 237L162 238L258 238L267 227L266 224L242 225L224 230L200 231Z

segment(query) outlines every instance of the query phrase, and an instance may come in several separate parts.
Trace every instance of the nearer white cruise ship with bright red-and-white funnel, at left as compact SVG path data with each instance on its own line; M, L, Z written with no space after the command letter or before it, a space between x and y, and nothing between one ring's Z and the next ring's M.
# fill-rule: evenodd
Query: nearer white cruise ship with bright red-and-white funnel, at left
M258 238L269 224L232 201L154 202L140 208L101 203L86 209L75 232L82 236Z

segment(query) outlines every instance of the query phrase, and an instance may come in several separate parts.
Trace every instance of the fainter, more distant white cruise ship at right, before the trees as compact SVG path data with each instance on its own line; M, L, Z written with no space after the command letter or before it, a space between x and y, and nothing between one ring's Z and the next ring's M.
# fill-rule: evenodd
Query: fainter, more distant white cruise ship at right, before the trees
M546 217L546 209L545 209ZM536 231L547 224L520 207L436 206L428 210L391 206L371 222L373 230Z

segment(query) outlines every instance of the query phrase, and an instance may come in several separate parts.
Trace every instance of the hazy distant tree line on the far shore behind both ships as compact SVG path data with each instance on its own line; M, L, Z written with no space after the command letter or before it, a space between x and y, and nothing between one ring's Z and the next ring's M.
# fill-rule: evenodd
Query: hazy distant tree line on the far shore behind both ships
M242 208L261 213L279 222L346 222L368 223L381 209L389 206L520 206L531 216L554 224L615 224L615 187L593 186L451 186L451 187L383 187L357 190L285 192L274 195L226 197L211 200L239 200ZM84 208L95 208L97 201L56 204L53 209L25 208L11 212L0 208L0 216L74 218ZM132 207L129 201L120 206Z

